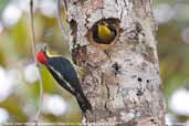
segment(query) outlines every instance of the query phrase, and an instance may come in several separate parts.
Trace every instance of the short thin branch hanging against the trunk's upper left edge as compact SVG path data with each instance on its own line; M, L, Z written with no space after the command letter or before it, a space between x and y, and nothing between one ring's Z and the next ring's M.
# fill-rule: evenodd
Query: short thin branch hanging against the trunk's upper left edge
M64 6L64 9L66 9L66 6L65 4L63 6ZM62 19L61 19L61 0L56 0L56 9L57 9L56 18L57 18L59 27L61 28L63 38L65 39L66 42L69 42L69 34L66 34L66 30L63 27Z

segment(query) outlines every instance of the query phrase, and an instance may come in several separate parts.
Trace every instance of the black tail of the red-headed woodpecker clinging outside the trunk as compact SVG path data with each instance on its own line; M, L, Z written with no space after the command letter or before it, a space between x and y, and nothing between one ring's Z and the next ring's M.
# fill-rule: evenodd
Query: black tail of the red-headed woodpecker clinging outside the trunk
M75 97L83 113L86 113L87 109L92 111L91 103L84 93L76 92Z

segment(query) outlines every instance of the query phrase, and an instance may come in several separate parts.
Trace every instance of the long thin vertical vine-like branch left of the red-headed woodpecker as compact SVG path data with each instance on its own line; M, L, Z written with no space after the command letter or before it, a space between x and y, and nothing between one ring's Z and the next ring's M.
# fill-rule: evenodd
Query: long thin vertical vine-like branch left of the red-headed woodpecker
M31 27L31 46L32 46L32 55L34 63L38 66L38 72L39 72L39 81L40 81L40 99L39 99L39 106L38 106L38 112L35 115L34 120L39 120L40 114L41 114L41 107L42 107L42 101L43 101L43 82L41 77L41 71L38 65L38 61L35 57L35 50L36 50L36 42L35 42L35 35L34 35L34 25L33 25L33 0L30 0L30 27Z

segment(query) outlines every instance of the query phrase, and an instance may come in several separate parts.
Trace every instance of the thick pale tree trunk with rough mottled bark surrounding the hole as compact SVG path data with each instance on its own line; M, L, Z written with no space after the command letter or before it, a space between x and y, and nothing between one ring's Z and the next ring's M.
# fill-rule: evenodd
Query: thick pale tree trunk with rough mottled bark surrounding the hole
M83 70L82 86L93 106L83 122L164 126L150 1L69 0L65 6L73 61ZM118 33L104 50L90 34L97 21L108 18L117 21Z

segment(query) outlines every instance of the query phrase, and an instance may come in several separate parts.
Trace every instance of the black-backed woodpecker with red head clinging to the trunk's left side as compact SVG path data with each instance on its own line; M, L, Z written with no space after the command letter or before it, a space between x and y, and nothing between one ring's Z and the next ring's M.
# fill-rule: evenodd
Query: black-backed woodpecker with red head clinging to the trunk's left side
M92 106L83 93L76 71L72 63L63 56L50 56L46 46L36 52L36 60L45 65L56 82L75 96L83 113L92 111Z

